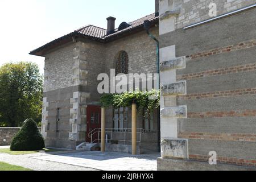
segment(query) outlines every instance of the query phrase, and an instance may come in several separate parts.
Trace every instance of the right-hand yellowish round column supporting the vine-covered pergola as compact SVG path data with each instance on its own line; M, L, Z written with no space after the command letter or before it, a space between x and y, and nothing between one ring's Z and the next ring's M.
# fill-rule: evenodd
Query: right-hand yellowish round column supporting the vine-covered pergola
M137 105L131 105L131 151L132 155L137 155Z

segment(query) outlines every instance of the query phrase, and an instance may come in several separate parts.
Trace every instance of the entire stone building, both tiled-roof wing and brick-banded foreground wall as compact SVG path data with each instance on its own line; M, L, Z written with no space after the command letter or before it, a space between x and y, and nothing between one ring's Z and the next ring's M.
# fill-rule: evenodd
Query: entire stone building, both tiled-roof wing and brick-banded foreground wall
M159 170L255 170L256 1L155 4L154 14L117 29L109 17L108 30L87 26L31 52L46 57L46 145L75 148L97 140L88 134L100 127L98 74L110 75L112 68L125 74L158 72L155 42L143 29L149 20L160 42L160 127L157 111L150 119L137 115L137 128L146 131L138 132L140 149L158 151L161 141ZM131 110L106 110L108 127L121 129L111 130L110 138L123 144Z

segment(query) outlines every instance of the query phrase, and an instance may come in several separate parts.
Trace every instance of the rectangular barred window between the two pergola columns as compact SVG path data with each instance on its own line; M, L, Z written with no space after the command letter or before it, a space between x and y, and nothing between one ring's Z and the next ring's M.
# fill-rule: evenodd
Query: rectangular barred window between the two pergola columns
M128 108L119 107L113 110L114 131L122 131L128 127Z

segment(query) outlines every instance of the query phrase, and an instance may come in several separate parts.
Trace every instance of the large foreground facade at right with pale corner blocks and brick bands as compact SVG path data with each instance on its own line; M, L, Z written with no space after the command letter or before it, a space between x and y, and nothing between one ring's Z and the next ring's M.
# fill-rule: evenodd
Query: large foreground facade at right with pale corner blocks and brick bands
M210 2L214 1L159 1L163 67L161 138L165 143L183 140L188 148L179 148L184 153L187 150L189 158L176 160L180 152L175 153L175 148L170 152L171 147L163 144L159 170L255 170L256 167L253 122L256 9L183 30L212 18L208 14ZM217 15L221 15L256 1L215 3ZM168 64L184 56L185 67L177 69ZM185 83L184 94L175 92L177 82ZM187 108L187 115L178 114L174 118L179 107ZM217 153L216 166L208 163L210 151Z

